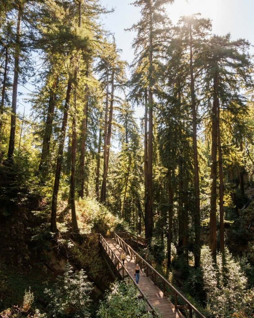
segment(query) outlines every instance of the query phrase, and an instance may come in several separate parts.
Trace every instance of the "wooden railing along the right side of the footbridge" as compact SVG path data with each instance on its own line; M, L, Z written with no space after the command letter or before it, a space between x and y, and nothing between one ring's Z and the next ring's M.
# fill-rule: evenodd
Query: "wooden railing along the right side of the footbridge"
M131 248L119 235L117 232L112 232L113 237L116 243L125 250L131 259L134 258L135 263L138 263L140 268L143 268L146 272L146 276L150 276L151 280L154 284L158 285L160 290L164 293L165 296L174 295L175 296L175 308L177 309L184 309L189 311L189 318L192 318L192 311L194 311L199 317L205 318L197 308L195 308L178 290L170 284L168 280L166 280L160 273L156 271L147 261L145 261L133 248ZM166 292L166 287L170 289L170 292ZM186 305L179 306L178 305L178 298L180 298Z

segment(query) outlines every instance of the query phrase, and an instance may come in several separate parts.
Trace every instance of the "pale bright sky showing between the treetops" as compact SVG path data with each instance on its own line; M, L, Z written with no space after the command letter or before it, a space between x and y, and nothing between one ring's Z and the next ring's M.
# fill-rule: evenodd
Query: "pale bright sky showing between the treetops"
M104 15L102 22L107 30L113 32L118 48L122 49L121 57L127 62L133 59L131 42L135 36L134 32L124 31L130 28L140 18L139 9L130 4L132 0L101 0L101 3L108 9L114 8L113 13ZM213 24L213 33L224 35L231 33L233 39L246 38L254 44L254 0L175 0L167 7L171 21L176 24L179 17L200 12L203 17L209 17ZM254 48L251 47L254 53ZM31 82L31 80L30 80ZM28 82L25 86L33 90ZM29 114L30 105L23 99L29 91L22 86L18 87L23 97L19 97L18 111ZM136 108L136 117L144 114L142 107Z

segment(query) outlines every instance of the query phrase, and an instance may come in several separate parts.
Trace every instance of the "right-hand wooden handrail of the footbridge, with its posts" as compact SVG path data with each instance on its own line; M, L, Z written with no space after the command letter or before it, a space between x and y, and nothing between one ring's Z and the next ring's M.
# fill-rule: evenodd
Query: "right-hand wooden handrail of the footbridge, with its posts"
M163 290L161 288L160 289L163 291L164 295L172 295L172 294L175 295L175 304L174 304L175 308L188 309L189 310L189 318L192 317L192 310L199 317L205 318L205 316L203 314L201 314L201 312L196 307L194 307L180 292L178 292L178 290L173 285L171 285L168 280L166 280L160 273L158 273L157 270L154 269L146 260L144 260L133 248L131 248L127 243L125 243L124 240L119 235L117 235L116 232L113 232L113 233L114 233L114 238L115 238L115 241L117 242L117 244L121 248L123 248L124 250L129 252L129 255L130 255L131 259L133 258L133 255L134 255L134 256L136 256L136 259L135 259L136 263L140 262L141 266L143 266L142 263L144 263L144 265L145 265L144 267L146 267L146 276L153 275L154 284L163 283ZM141 268L143 268L143 267L141 267ZM149 273L148 269L150 269L151 273ZM156 281L157 276L160 278L160 281ZM173 292L172 293L166 293L165 292L165 286L170 287L170 289ZM188 306L178 306L177 305L177 296L179 296Z

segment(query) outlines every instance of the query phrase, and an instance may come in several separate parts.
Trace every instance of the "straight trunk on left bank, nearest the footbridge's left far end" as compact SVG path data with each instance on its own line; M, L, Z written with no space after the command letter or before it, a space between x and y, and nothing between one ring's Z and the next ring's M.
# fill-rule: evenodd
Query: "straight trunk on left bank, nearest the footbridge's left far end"
M77 73L76 73L77 74ZM75 76L77 78L77 75ZM72 232L78 233L76 206L75 206L75 162L76 162L76 148L77 148L77 134L76 134L76 88L74 92L74 109L72 118L72 142L71 142L71 176L70 176L70 206L71 206L71 228Z

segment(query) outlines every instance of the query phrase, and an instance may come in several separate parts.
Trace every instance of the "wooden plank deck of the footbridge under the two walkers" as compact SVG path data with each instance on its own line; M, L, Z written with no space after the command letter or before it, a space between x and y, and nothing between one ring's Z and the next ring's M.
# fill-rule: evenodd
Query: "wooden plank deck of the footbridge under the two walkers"
M120 258L122 252L121 247L117 245L114 239L105 238L105 240L107 241L113 252L115 252L116 255ZM130 274L133 274L134 276L134 268L136 265L134 259L130 259L130 257L127 255L127 262L125 261L124 265L130 272ZM150 278L147 277L145 273L144 276L140 274L139 287L146 295L150 303L154 307L158 308L158 311L162 313L164 318L184 318L180 311L175 308L171 301L169 301L168 297L164 296L163 292L156 285L154 285L153 281L150 280Z

